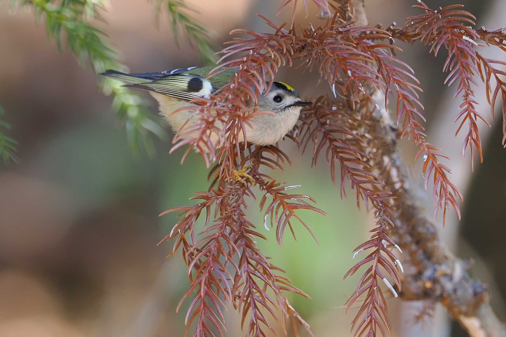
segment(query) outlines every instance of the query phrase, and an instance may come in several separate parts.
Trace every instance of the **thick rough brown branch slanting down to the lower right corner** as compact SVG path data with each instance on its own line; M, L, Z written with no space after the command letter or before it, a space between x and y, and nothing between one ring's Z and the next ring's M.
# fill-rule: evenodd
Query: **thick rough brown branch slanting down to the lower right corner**
M473 337L505 335L506 329L488 304L486 285L469 276L467 261L454 257L441 246L434 224L418 204L414 183L397 146L397 132L385 109L380 111L381 114L372 115L376 122L367 130L373 139L383 139L381 143L369 144L376 149L371 151L375 154L371 160L374 166L383 167L386 187L396 197L392 235L397 236L396 242L415 267L414 272L402 278L400 296L404 300L440 302Z

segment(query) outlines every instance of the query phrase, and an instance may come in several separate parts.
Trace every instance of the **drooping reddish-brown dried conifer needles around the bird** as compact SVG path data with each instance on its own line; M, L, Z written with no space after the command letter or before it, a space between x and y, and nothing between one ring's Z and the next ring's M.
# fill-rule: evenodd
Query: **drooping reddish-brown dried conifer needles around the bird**
M307 5L305 0L303 2ZM284 0L281 8L296 3L296 0ZM312 151L312 165L324 156L334 183L339 167L341 198L346 195L349 181L357 206L360 207L362 201L376 219L371 238L354 251L353 258L359 254L363 258L345 275L346 278L363 267L356 291L347 301L350 309L362 298L352 321L352 331L356 335L376 336L378 330L386 335L390 331L382 288L388 287L397 297L403 272L399 258L393 253L401 253L401 248L390 235L395 217L392 195L378 177L378 168L369 165L370 154L364 139L373 137L363 130L374 123L372 116L380 109L378 103L388 107L389 98L395 100L399 136L407 135L418 147L415 160L419 157L424 160L422 173L426 188L432 180L434 215L443 209L444 222L446 210L451 206L460 217L457 202L462 196L448 179L450 169L439 162L440 158L447 157L426 140L421 124L425 118L420 113L423 105L418 98L421 88L409 65L397 59L395 53L401 49L393 44L394 40L408 43L420 40L431 45L430 52L434 55L442 46L447 50L444 71L449 74L446 82L449 85L457 82L456 95L462 94L461 111L456 113L455 119L460 121L457 133L465 125L468 129L462 155L469 146L473 157L474 146L482 159L477 121L487 121L476 111L474 87L477 83L473 75L477 73L485 84L492 117L499 93L501 95L505 134L502 141L506 145L506 83L502 77L506 73L496 68L506 63L486 59L475 50L481 45L476 41L481 40L506 51L504 30L467 27L474 24L474 17L461 10L460 5L432 10L418 1L413 7L422 11L420 15L407 18L404 28L390 26L384 30L379 26L354 25L355 22L350 21L353 16L351 1L314 0L314 3L322 15L333 11L333 15L316 28L312 25L296 28L286 23L278 27L264 18L272 30L270 33L232 31L231 34L249 37L227 42L227 47L221 51L220 66L238 71L210 99L194 101L200 104L197 111L200 123L187 131L188 134L178 134L174 139L176 145L171 151L188 145L183 160L191 149L196 149L207 166L214 163L209 173L212 181L209 189L192 198L198 201L196 205L162 213L180 212L181 219L162 241L174 240L170 255L181 248L188 265L190 287L181 303L186 299L191 301L186 324L189 332L191 323L197 322L193 336L211 336L215 331L223 336L226 328L222 310L226 303L241 312L241 326L250 336L264 336L267 330L276 333L270 316L281 319L285 333L288 317L292 317L296 335L297 322L309 330L309 325L288 303L285 293L308 296L291 285L283 271L260 252L255 239L266 237L245 214L247 200L255 198L258 192L253 189L258 186L264 225L267 229L276 227L280 246L286 228L295 237L293 226L296 225L304 226L314 236L298 210L309 209L326 215L315 206L313 198L290 194L292 189L300 188L299 185L277 182L265 172L266 169L282 170L290 163L283 151L277 146L258 147L247 143L245 125L253 123L251 117L259 113L255 110L259 95L270 89L279 67L292 67L297 63L297 68L316 70L320 79L328 82L334 98L328 95L308 98L313 105L302 111L300 122L287 138L295 141L301 151ZM215 73L219 71L217 67ZM377 90L384 92L384 102L372 99L372 93ZM189 134L197 135L188 138ZM213 143L212 134L217 134L221 142ZM241 134L246 141L239 143ZM238 179L237 172L241 168L243 172ZM205 223L200 227L197 219L202 213ZM193 300L190 299L192 294Z

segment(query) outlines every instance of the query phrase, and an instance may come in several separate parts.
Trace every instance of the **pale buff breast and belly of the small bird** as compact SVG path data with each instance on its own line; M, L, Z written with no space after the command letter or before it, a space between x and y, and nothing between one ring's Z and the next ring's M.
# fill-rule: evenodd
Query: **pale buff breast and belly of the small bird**
M188 107L191 105L190 103L160 93L152 91L150 93L159 103L160 115L171 125L175 132L180 131L180 134L182 134L185 130L190 130L192 126L200 122L199 118L194 117L196 110L181 110L173 113L180 108ZM194 106L197 107L196 105ZM247 140L258 145L274 144L293 128L299 119L300 111L301 108L292 107L276 115L265 114L251 118L251 126L245 125ZM188 120L190 121L181 130ZM216 123L216 126L220 129L223 127L221 123ZM190 136L191 134L187 137ZM215 144L218 140L218 135L213 133L210 139ZM244 137L241 132L239 134L239 141L243 140Z

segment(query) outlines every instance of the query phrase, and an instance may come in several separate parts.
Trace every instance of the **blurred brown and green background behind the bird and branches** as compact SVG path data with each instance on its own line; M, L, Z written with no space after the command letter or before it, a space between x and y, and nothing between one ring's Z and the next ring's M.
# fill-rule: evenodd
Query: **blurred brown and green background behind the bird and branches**
M270 31L256 13L278 24L288 20L289 10L275 16L279 3L188 1L199 12L195 18L212 31L216 46L228 40L234 28ZM402 25L404 17L417 14L410 8L412 3L366 0L369 23ZM459 3L478 17L478 27L506 26L502 0ZM452 2L428 0L427 4ZM158 214L191 203L193 191L207 188L203 161L190 154L181 166L182 151L168 155L170 139L156 143L154 158L134 157L110 109L111 98L101 93L93 71L79 66L68 51L58 52L48 42L43 25L35 24L33 13L12 13L8 5L0 3L0 105L19 142L19 164L0 165L0 336L182 336L189 302L179 314L175 308L188 278L179 254L165 259L172 245L156 246L176 222L172 214ZM131 71L201 65L198 52L184 39L178 49L166 20L155 27L149 2L111 0L104 17L107 24L100 27ZM307 18L300 5L296 20L320 24L312 5ZM474 257L474 275L489 283L492 305L505 318L506 152L500 145L499 114L491 128L482 128L485 162L475 163L471 175L469 158L462 160L459 155L463 132L456 139L453 136L451 123L459 100L452 99L455 87L443 85L444 53L434 58L425 46L402 47L401 59L415 69L425 90L421 101L429 138L453 158L449 163L453 181L466 197L460 222L452 215L443 229L437 219L441 236L450 251ZM497 53L495 58L506 59ZM281 69L276 78L303 94L328 92L324 84L315 86L314 74ZM477 96L484 101L483 90L478 89ZM150 102L155 113L155 102ZM482 105L487 117L488 111ZM419 189L430 217L434 208L421 183L420 163L413 162L416 149L407 139L402 147L416 181L413 188ZM300 192L314 197L329 216L301 212L319 245L303 228L296 228L297 242L286 236L282 249L273 231L263 233L268 240L259 245L312 297L309 301L293 296L290 302L313 332L348 336L353 315L345 315L342 305L356 278L343 281L343 275L352 265L352 250L368 235L371 216L356 209L353 197L340 199L338 188L329 183L324 160L311 169L308 157L301 156L291 141L282 148L292 158L292 166L272 175L301 184ZM248 212L263 230L255 201ZM394 336L465 335L448 323L444 310L415 324L420 304L388 302ZM232 308L226 319L227 336L244 335Z

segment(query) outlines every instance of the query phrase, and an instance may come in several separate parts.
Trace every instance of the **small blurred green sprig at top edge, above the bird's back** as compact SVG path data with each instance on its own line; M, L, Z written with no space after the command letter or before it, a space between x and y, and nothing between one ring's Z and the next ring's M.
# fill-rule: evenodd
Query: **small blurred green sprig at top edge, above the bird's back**
M163 11L167 13L172 23L176 44L179 44L178 33L181 27L186 32L190 45L196 44L203 61L210 65L216 64L217 58L209 43L209 31L187 14L188 11L196 12L195 10L189 8L182 0L154 0L154 7L157 24L160 22L161 13Z

